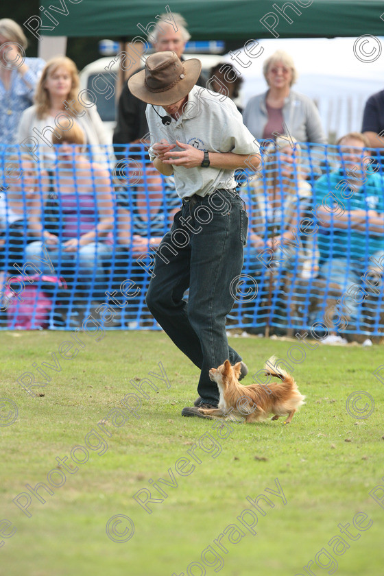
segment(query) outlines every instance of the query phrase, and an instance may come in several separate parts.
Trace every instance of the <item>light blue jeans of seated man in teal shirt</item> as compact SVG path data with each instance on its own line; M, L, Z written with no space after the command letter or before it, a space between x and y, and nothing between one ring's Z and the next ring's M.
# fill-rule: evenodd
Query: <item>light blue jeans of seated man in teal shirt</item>
M379 250L378 252L372 254L372 258L380 261L383 255L384 251ZM365 261L364 258L354 260L333 258L325 261L320 267L319 276L328 278L329 282L338 284L341 288L341 297L339 300L342 300L342 296L346 295L346 298L344 298L344 305L339 307L339 312L348 318L348 326L355 326L357 324L359 309L361 309L362 304L362 296L360 298L357 297L354 299L352 296L348 296L348 290L354 285L355 287L357 285L364 288L364 283L363 280L361 280L361 276L363 276L368 267L373 266L374 265L370 260ZM381 272L384 272L384 270ZM366 292L369 292L369 289L366 289ZM359 300L361 300L361 302ZM324 310L322 313L324 313ZM320 320L319 314L317 317L317 319Z

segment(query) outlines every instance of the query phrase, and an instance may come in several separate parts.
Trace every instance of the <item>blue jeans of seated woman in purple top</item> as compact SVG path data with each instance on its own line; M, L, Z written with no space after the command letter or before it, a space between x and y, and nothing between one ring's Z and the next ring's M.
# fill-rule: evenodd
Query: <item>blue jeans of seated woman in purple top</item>
M76 285L84 286L86 297L95 300L106 298L106 274L103 263L112 252L112 246L102 242L91 242L80 248L76 252L64 252L64 245L58 244L54 248L47 249L49 258L54 267L51 271L49 264L38 261L36 264L43 274L54 274L63 276ZM25 259L32 260L33 256L38 256L46 260L41 241L32 242L27 245Z

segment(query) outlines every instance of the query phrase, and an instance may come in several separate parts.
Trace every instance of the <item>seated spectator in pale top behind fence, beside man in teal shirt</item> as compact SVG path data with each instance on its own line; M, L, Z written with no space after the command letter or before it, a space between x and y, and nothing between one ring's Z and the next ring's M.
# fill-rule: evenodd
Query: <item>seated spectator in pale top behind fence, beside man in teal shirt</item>
M302 173L300 145L294 139L293 142L293 148L282 138L275 145L270 144L265 151L269 160L263 179L250 182L250 233L244 250L244 272L258 278L259 293L245 308L251 309L254 321L260 317L261 303L267 302L270 282L274 291L280 285L286 293L293 286L291 282L287 285L287 274L304 275L315 261L313 243L306 243L303 248L300 239L300 220L309 207L312 192ZM267 267L274 267L274 274L266 274ZM269 313L269 308L270 302L265 305L265 313ZM284 317L285 313L283 309L279 312Z

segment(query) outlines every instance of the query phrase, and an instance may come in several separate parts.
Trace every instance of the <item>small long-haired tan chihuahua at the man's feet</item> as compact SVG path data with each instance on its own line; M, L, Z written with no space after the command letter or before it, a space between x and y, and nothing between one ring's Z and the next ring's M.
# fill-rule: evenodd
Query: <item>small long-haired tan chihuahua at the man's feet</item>
M269 414L274 414L272 420L288 415L285 424L289 424L296 410L304 404L305 396L300 394L295 380L282 368L275 364L272 356L264 365L266 376L276 376L280 382L265 385L251 384L243 386L239 383L241 363L234 366L226 360L219 368L211 368L209 377L219 388L219 406L213 409L200 408L204 416L236 418L240 416L245 422L264 420Z

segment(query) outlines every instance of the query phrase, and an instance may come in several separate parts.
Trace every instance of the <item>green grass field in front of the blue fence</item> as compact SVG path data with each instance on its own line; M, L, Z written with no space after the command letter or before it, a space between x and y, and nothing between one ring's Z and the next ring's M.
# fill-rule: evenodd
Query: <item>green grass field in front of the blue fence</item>
M384 501L369 494L384 488L384 387L373 376L384 362L382 346L307 349L293 371L307 404L289 426L280 419L221 427L180 415L196 397L198 372L165 334L80 335L84 348L65 359L58 349L67 350L70 336L0 335L0 396L19 409L13 424L0 427L0 520L11 523L0 523L1 575L383 575ZM250 337L230 344L250 368L245 384L272 354L286 359L293 343ZM60 367L43 367L51 381L32 388L44 396L31 396L17 379L32 372L36 382L43 362L55 367L51 352ZM159 363L167 378L149 374L161 376ZM143 387L148 398L134 388L145 378L158 387ZM374 399L365 419L346 411L346 399L360 390ZM141 396L141 407L129 396L124 409L128 393ZM12 420L10 405L3 403L1 418ZM40 486L45 503L26 488L37 483L53 492ZM143 488L158 500L149 503L151 514L134 499ZM256 510L247 501L261 494L274 507L259 501ZM109 524L110 535L125 542L106 533L117 515L134 524L133 534L126 518L115 529Z

